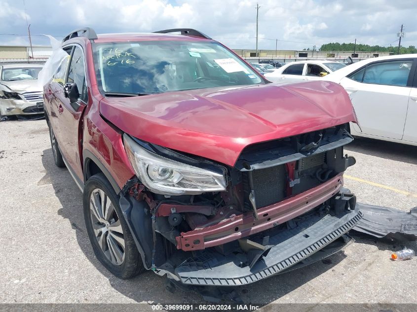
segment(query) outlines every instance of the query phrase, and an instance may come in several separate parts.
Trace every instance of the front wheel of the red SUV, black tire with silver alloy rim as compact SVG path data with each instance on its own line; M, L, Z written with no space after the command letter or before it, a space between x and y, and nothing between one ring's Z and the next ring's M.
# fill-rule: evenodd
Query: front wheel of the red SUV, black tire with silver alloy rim
M103 173L91 176L83 191L84 220L97 259L116 277L145 271L119 207L119 197Z

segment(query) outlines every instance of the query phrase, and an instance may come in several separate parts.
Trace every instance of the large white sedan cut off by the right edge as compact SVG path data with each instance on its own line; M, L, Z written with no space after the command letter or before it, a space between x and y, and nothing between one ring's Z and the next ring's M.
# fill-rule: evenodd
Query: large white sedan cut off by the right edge
M417 145L416 66L417 54L384 56L323 78L349 94L360 126L350 125L352 135Z

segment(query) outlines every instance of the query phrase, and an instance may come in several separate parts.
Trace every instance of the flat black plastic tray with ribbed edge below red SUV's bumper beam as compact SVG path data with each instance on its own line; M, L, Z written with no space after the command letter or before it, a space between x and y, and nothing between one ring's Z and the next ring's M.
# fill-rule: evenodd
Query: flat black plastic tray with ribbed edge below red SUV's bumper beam
M361 218L362 213L354 210L340 218L326 215L299 234L274 245L264 256L264 259L250 270L248 267L239 267L231 260L213 266L210 260L190 258L175 269L175 274L183 284L187 285L237 286L250 284L279 274L302 262L326 245L339 239ZM306 235L307 233L308 235ZM273 239L274 237L270 237L269 241Z

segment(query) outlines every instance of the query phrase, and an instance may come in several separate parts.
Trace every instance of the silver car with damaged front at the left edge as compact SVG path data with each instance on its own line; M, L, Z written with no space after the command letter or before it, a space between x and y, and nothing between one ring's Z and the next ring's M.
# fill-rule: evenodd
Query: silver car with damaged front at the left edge
M40 64L0 65L0 118L19 119L43 116L43 94L38 86Z

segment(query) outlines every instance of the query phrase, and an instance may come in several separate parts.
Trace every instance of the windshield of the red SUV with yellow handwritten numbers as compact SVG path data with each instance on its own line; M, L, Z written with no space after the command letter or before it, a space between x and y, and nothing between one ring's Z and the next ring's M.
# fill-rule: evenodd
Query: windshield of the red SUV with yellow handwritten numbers
M148 94L264 83L216 42L138 41L96 44L97 82L107 93Z

